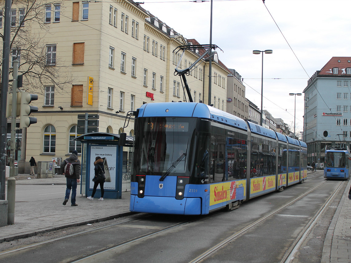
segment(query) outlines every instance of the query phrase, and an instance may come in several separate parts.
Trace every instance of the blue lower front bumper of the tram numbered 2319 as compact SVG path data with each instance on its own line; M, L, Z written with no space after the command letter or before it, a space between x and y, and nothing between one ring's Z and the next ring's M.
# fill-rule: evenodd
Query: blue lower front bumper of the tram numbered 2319
M161 213L176 215L201 215L201 198L185 197L176 200L174 197L131 195L130 210L132 212Z

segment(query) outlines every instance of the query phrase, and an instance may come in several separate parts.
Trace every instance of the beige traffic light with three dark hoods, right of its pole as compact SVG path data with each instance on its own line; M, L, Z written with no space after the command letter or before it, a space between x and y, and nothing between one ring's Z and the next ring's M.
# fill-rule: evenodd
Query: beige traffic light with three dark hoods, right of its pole
M33 123L37 123L37 118L28 116L29 114L38 111L38 107L29 105L33 100L38 100L37 94L30 94L21 91L20 128L26 128Z

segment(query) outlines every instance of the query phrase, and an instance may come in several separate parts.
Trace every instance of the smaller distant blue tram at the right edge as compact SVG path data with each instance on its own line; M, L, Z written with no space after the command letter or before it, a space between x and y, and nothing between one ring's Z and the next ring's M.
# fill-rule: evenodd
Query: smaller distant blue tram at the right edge
M345 179L350 177L351 155L349 148L325 147L324 178Z

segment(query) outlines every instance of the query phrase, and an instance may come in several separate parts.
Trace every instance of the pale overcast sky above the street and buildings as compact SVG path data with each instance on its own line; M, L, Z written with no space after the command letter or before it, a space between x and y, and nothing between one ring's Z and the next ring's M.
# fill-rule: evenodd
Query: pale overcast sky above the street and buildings
M185 38L210 42L210 1L144 3ZM289 93L302 93L333 56L351 56L350 10L350 0L213 0L212 43L224 51L216 50L218 58L244 78L246 97L259 108L262 55L252 50L273 50L263 56L263 109L293 127ZM296 132L303 129L303 95L296 96Z

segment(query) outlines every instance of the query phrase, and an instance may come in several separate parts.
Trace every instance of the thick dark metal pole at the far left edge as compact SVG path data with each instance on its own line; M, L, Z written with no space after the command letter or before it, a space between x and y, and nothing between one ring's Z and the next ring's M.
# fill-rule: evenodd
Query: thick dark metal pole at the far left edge
M6 112L8 74L10 63L10 33L11 33L11 0L5 0L4 21L4 44L2 49L2 73L1 73L1 99L0 112ZM7 140L7 118L6 114L0 116L0 200L5 200L5 178L6 178L6 140Z

